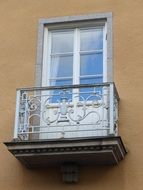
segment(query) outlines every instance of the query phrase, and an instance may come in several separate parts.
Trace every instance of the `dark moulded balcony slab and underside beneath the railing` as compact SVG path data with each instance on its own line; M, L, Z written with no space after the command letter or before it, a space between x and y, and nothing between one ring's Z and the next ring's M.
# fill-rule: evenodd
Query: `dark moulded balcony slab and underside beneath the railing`
M26 167L114 165L126 149L121 137L5 142L8 150Z

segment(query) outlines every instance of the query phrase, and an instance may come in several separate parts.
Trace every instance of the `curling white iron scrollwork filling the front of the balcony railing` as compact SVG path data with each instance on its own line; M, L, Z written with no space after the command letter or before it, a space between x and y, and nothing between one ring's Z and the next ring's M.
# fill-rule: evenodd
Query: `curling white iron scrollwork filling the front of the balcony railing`
M98 90L95 87L85 94L81 93L80 89L62 89L56 93L54 90L22 91L19 105L19 133L32 133L36 127L62 125L101 127L103 122L107 123L108 127L109 87L100 87ZM114 119L117 123L118 101L116 99L114 101Z

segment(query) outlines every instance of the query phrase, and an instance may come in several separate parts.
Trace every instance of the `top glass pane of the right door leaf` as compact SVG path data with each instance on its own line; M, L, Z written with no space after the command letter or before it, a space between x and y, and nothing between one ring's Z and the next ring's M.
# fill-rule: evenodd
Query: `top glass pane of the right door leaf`
M80 50L90 51L103 49L103 30L89 29L81 30Z

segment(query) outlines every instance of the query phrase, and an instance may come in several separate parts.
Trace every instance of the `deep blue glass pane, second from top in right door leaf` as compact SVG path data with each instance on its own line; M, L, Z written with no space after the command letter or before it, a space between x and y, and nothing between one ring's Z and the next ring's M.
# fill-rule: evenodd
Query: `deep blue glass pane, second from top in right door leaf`
M103 54L82 54L80 57L80 76L103 73Z

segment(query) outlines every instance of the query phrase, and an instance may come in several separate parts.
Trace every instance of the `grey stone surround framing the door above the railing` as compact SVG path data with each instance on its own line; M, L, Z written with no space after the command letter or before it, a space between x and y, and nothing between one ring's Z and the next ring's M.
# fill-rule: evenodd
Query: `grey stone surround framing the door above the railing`
M40 87L42 85L42 68L43 68L43 39L44 39L44 26L54 26L60 24L68 24L81 21L107 21L107 82L113 81L113 54L112 54L112 13L92 13L78 16L64 16L39 20L38 29L38 45L37 45L37 61L35 68L35 86Z

